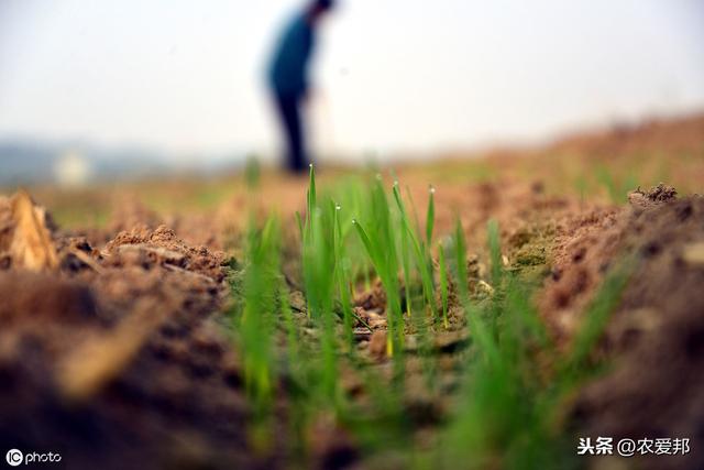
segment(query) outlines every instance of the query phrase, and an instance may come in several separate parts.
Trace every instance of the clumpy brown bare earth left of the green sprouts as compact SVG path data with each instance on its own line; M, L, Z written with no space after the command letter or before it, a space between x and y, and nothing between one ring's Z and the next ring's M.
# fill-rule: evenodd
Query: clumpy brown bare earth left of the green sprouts
M0 198L0 441L77 469L263 466L217 327L224 255L165 226L97 248L43 214Z

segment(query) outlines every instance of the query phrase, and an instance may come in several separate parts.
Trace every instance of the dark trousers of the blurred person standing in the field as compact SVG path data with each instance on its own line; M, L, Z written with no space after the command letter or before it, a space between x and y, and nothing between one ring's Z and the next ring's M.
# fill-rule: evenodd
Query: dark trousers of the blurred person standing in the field
M292 172L305 172L309 160L301 112L302 99L298 95L275 91L274 101L286 138L286 166Z

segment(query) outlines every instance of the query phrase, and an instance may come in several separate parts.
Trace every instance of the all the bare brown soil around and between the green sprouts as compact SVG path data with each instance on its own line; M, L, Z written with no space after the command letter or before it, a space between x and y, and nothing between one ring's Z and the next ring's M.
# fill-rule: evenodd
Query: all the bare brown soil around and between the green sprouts
M486 181L470 182L469 170L453 172L449 162L443 165L450 170L438 173L448 182L432 182L436 233L450 233L455 216L462 217L472 292L492 293L484 247L493 218L501 227L505 266L536 286L540 313L559 347L570 343L608 269L629 253L637 258L595 351L609 359L612 369L583 389L570 416L575 436L691 439L686 460L636 462L642 468L704 467L704 296L698 291L704 285L704 198L688 195L704 175L703 143L704 117L650 122L578 135L541 151L495 153L487 164L501 172ZM659 185L631 192L626 206L616 206L550 190L564 176L553 154L559 162L568 153L579 162L616 155L615 165L627 165L628 155L645 151L690 155L682 165L670 165L684 196ZM649 162L671 164L668 156ZM431 170L399 172L419 208L427 203ZM450 181L451 173L464 179ZM302 209L306 183L272 177L261 190L266 198L254 201L255 212L273 207L290 218L284 227L295 227L293 214ZM251 409L223 327L229 281L238 275L230 267L238 256L232 241L248 217L242 208L252 201L238 194L209 214L172 215L121 195L103 227L73 229L56 227L32 205L38 229L20 229L13 200L0 197L0 441L8 448L58 451L67 467L77 469L284 467L286 442L274 442L262 455L246 434ZM284 233L288 258L295 253L295 232ZM19 238L36 248L32 267L18 256ZM286 261L292 307L305 330L305 299L295 266ZM354 310L358 348L382 373L391 365L384 354L385 303L374 284L359 293ZM450 330L430 345L440 358L438 380L446 395L458 386L457 352L470 342L458 328L461 318L451 310ZM413 356L419 347L409 331L405 348ZM416 359L407 364L405 405L418 427L418 444L427 446L428 429L441 422L448 404L413 385L422 379ZM356 378L343 379L351 394L362 393ZM285 403L277 406L285 419ZM312 439L316 466L355 461L365 468L333 420L322 417L314 428L324 436Z

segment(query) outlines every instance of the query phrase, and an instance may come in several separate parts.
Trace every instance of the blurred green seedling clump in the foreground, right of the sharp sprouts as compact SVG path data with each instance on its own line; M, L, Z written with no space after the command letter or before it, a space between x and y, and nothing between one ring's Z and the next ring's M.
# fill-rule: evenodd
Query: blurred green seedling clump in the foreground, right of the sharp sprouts
M463 262L460 232L458 225L458 265ZM492 233L497 230L490 227L490 244L494 243ZM569 437L560 434L559 422L575 386L593 370L586 367L586 360L606 319L618 305L631 267L631 263L626 262L607 275L584 313L585 321L572 347L564 354L549 340L538 310L529 300L532 296L527 284L515 274L501 274L504 280L497 287L501 293L495 302L483 307L472 306L468 313L475 353L468 358L459 408L443 436L444 446L437 455L437 467L452 468L458 459L471 462L468 468L477 469L578 467ZM464 284L463 281L458 282ZM465 298L463 288L459 291ZM501 316L496 335L484 336L482 331L486 331L492 321L486 316L497 311ZM536 363L546 361L558 367L536 368Z

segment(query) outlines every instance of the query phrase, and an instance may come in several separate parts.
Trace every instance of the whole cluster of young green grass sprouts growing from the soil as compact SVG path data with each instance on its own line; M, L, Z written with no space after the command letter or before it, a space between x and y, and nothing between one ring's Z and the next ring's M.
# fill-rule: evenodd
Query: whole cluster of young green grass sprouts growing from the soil
M607 186L613 190L610 183ZM267 423L284 394L283 403L290 408L290 448L297 449L301 468L309 463L307 429L328 414L353 433L356 442L373 451L395 446L418 457L420 468L453 468L459 461L474 468L573 463L572 452L562 451L554 423L566 397L594 370L591 351L618 305L632 263L612 271L568 352L559 352L531 302L532 287L520 273L505 269L496 220L486 226L487 281L493 287L488 295L471 289L479 280L469 278L465 230L459 218L451 237L433 244L435 193L431 186L421 230L410 192L406 200L413 221L397 182L391 194L378 174L369 183L339 183L332 192L321 186L319 193L311 165L305 214L296 212L305 313L289 305L278 219L272 217L262 227L252 219L242 288L233 289L234 336L254 417ZM381 314L386 319L391 376L370 365L355 340L355 324L380 328L353 309L355 291L369 288L375 277L385 292ZM450 317L450 311L463 311L464 317ZM439 381L441 359L433 335L460 328L466 329L470 341L455 356L461 385L448 391ZM415 349L408 335L416 336ZM424 393L436 401L448 393L453 398L437 419L437 444L421 457L407 445L415 419L406 389L411 354L421 357ZM554 367L538 370L537 364L544 363ZM356 393L365 400L355 401L342 385L343 373L358 379L362 392ZM280 381L287 385L282 387Z

